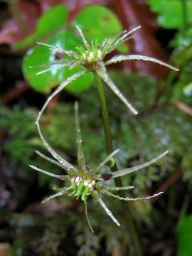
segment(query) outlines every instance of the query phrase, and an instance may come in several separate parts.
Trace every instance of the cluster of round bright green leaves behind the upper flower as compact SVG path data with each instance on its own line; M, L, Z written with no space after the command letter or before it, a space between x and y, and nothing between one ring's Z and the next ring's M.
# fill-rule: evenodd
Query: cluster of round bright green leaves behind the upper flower
M87 13L89 14L89 16L87 16ZM80 11L78 16L75 18L75 21L73 21L73 26L69 28L70 31L67 29L60 29L60 31L57 31L58 23L56 22L53 26L53 31L57 33L55 33L53 36L50 36L50 31L48 31L47 29L48 22L46 20L49 19L51 21L57 21L60 14L61 16L63 16L63 20L62 22L60 22L60 28L61 26L64 27L66 25L66 9L64 8L64 6L61 5L55 6L48 12L46 12L44 16L41 17L41 20L39 21L36 29L36 33L34 33L34 35L32 35L30 38L27 38L26 41L21 42L20 44L23 43L26 46L28 41L31 43L32 39L34 41L41 38L41 36L46 36L47 39L45 43L53 46L58 46L59 48L76 51L75 48L78 46L82 46L82 42L80 41L80 38L72 32L73 26L75 24L78 24L80 28L85 29L85 35L88 39L92 41L97 40L99 42L106 37L108 38L114 36L116 33L119 33L122 30L122 27L117 17L114 16L112 11L102 6L87 6L85 9ZM92 18L90 18L90 16ZM87 18L89 19L88 22ZM41 33L39 31L41 31ZM119 48L119 50L126 52L127 47L122 46L122 48ZM63 56L63 53L59 53L59 55L61 56L59 56L58 59L58 55L56 54L56 52L57 51L52 51L45 46L35 46L34 48L28 50L28 52L26 53L26 56L23 60L23 74L26 80L28 80L29 84L33 87L33 89L38 90L39 92L50 92L53 87L55 87L56 85L60 85L60 83L68 78L70 75L73 75L78 71L83 70L83 68L79 67L62 67L62 69L60 70L50 70L42 75L36 75L36 73L41 71L42 68L45 69L46 65L50 65L55 61L59 61L60 58L64 57L65 60L70 59L69 57L66 57L66 55ZM42 64L41 67L39 66L40 64ZM36 68L30 68L31 66L36 66ZM75 81L71 83L67 87L67 90L71 92L80 92L87 89L87 87L89 87L91 83L92 75L86 74L82 78L79 78L77 82Z

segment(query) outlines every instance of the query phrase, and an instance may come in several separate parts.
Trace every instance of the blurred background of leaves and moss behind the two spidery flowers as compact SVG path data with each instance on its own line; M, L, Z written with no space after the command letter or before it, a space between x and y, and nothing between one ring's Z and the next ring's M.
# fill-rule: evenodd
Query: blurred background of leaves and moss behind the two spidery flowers
M75 50L80 38L101 43L142 25L109 57L139 54L158 58L180 71L144 61L109 67L110 77L139 111L132 116L105 87L119 168L148 161L169 149L153 166L123 177L129 196L152 195L130 204L144 255L192 255L192 1L190 0L3 0L0 1L0 255L134 255L118 200L105 197L121 223L116 227L97 202L88 202L92 233L81 201L63 196L41 204L63 184L29 169L33 164L63 174L41 159L47 154L34 124L55 87L80 69L50 70L63 56L36 41ZM29 68L34 66L35 68ZM106 157L100 104L92 75L57 95L41 119L55 150L77 163L74 102L80 102L85 159ZM54 167L54 168L53 168ZM101 221L102 220L102 221Z

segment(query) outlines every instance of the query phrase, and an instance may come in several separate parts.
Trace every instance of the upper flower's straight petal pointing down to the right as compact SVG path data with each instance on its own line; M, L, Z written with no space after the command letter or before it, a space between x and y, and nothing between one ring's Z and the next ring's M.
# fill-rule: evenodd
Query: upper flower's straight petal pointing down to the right
M101 65L100 68L98 68L96 71L97 74L100 75L102 80L104 80L104 82L106 82L106 84L111 88L111 90L119 97L119 99L122 100L122 102L124 102L124 104L129 108L129 110L131 110L133 114L138 114L137 110L135 110L131 103L128 102L124 95L122 95L122 92L119 91L117 86L114 85L114 82L112 82L109 75L107 74L105 65Z

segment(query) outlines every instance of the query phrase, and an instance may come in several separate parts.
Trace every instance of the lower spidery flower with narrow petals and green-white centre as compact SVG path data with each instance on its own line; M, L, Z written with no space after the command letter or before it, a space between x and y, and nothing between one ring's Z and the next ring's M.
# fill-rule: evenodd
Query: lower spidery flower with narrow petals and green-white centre
M136 200L142 200L142 199L149 199L154 196L159 196L160 193L154 194L153 196L146 196L142 198L129 198L129 197L121 197L117 194L114 194L110 191L118 191L118 190L128 190L131 188L134 188L133 186L127 186L127 187L109 187L105 184L105 181L110 180L111 178L117 178L120 176L124 176L127 174L130 174L134 171L138 171L139 169L142 169L146 166L149 166L150 164L154 164L156 161L164 157L168 151L165 151L164 153L160 154L156 158L152 159L151 161L146 161L144 164L139 164L137 166L133 166L127 169L122 169L119 171L109 172L107 174L100 174L100 169L102 169L102 166L110 166L112 167L114 165L114 156L118 153L119 149L116 149L112 152L109 156L106 157L105 160L100 161L99 163L92 166L90 169L87 168L87 165L85 164L85 158L82 150L82 138L81 138L81 132L80 132L80 120L79 120L79 114L78 114L78 102L75 102L75 127L76 127L76 136L77 136L77 148L78 148L78 167L76 168L72 164L70 164L68 161L63 159L62 156L60 156L49 144L46 142L46 139L44 139L43 134L41 133L40 126L38 122L36 122L39 135L41 137L41 140L46 146L46 149L50 152L50 154L53 156L54 159L50 159L48 156L45 156L44 154L37 151L37 153L42 156L44 159L47 159L48 161L52 162L53 164L57 164L62 169L65 169L66 175L57 175L50 173L49 171L45 171L43 169L39 169L36 166L31 166L32 169L35 169L36 171L40 171L43 174L47 174L49 176L59 178L62 181L65 182L65 186L63 188L60 188L58 193L55 193L53 196L49 196L48 198L44 199L42 203L45 203L46 201L49 201L52 198L55 198L57 196L62 196L63 194L67 194L68 196L74 196L77 199L80 199L85 204L85 214L87 217L87 222L90 226L90 229L92 230L92 226L90 225L90 220L88 219L87 215L87 198L92 196L92 198L96 198L97 201L100 203L102 208L104 208L107 215L112 218L114 223L117 225L120 225L118 220L114 217L112 212L107 208L105 203L102 201L101 194L105 193L108 196L112 196L114 198L118 198L119 200L124 201L136 201ZM93 232L93 230L92 230Z

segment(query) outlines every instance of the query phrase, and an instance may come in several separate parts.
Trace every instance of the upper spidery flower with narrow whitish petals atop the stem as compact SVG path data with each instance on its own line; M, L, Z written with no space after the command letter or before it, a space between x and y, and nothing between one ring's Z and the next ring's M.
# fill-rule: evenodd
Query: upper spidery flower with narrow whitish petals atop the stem
M86 68L86 70L70 76L70 78L68 78L67 80L61 83L61 85L55 90L55 92L53 92L53 94L50 95L50 97L48 97L48 100L43 106L41 112L39 112L38 114L37 122L40 119L41 114L45 110L50 100L52 100L53 97L55 97L55 95L58 94L58 92L63 90L63 88L65 88L70 82L73 82L74 80L76 80L77 78L79 78L80 76L88 72L93 72L100 75L102 80L119 97L119 99L122 100L122 102L124 102L124 104L129 108L129 110L131 110L134 114L138 114L137 110L135 110L132 104L124 97L122 92L119 91L118 87L114 84L114 82L112 82L112 80L110 79L110 76L107 74L106 66L112 63L117 63L123 60L144 60L144 61L151 61L153 63L158 63L160 65L166 66L167 68L171 68L172 70L178 71L177 68L174 68L173 66L166 64L161 60L157 60L156 58L151 58L143 55L116 55L110 60L105 61L105 56L107 54L111 53L115 48L117 48L117 46L119 46L120 44L124 43L129 38L131 38L130 35L134 31L139 29L141 26L138 26L137 28L132 29L132 31L127 31L127 30L122 31L121 33L117 34L112 38L105 39L105 41L103 41L100 45L99 43L97 43L97 41L95 42L91 41L90 43L88 43L87 40L85 39L85 36L82 33L82 30L78 26L76 27L80 33L84 46L77 47L75 52L67 49L63 50L58 46L50 46L46 43L38 43L43 46L47 46L48 48L50 48L50 50L54 50L56 53L61 53L64 56L68 55L68 57L70 57L70 60L66 60L65 58L61 60L57 60L54 63L52 63L53 65L50 68L43 70L41 72L38 72L37 75L41 75L42 73L52 70L53 68L63 68L66 66L70 68L82 66Z

